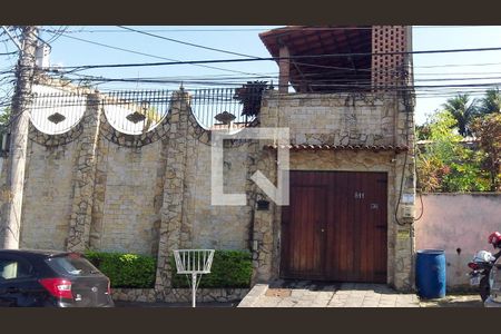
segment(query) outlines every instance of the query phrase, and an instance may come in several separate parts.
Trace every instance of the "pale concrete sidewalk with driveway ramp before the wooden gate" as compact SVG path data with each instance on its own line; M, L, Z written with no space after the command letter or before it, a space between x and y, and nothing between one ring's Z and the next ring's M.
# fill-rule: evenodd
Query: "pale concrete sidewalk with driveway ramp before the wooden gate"
M117 307L190 307L190 303L116 302ZM257 284L244 299L233 303L197 303L197 307L483 307L479 294L448 294L420 301L384 284L325 284L278 281Z

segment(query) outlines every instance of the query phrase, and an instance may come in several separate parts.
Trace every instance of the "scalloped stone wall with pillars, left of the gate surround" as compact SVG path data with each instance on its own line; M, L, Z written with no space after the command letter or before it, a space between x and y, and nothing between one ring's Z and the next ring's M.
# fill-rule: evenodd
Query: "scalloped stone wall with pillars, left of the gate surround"
M185 92L173 96L161 124L138 136L114 129L99 99L88 95L81 121L66 134L30 128L21 247L153 255L156 288L118 289L118 298L189 301L190 291L170 288L173 249L246 249L252 202L210 205L210 134ZM225 143L227 193L250 190L249 145L256 149L252 141ZM233 301L245 289L200 294L200 301Z

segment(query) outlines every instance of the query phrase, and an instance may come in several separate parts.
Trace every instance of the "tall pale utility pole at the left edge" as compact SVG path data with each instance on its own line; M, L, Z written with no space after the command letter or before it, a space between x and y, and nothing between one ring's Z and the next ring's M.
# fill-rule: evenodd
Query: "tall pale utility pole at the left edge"
M10 116L10 146L2 189L0 248L19 248L22 190L28 147L29 107L35 76L37 27L22 27L22 46L16 69L16 90Z

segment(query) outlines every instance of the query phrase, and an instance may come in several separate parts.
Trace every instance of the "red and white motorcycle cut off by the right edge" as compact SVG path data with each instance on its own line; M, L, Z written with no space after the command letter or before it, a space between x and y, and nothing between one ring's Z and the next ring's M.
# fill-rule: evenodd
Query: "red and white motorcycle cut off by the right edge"
M491 292L489 284L489 274L498 257L501 256L501 252L495 255L487 250L480 250L473 257L472 262L468 263L468 266L472 269L468 275L470 276L470 285L479 286L480 297L484 302Z

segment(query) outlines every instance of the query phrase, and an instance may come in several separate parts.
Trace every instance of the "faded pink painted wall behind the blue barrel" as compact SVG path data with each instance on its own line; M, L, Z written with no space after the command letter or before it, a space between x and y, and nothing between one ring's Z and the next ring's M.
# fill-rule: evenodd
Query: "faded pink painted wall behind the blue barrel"
M468 286L468 262L481 249L493 252L488 236L501 232L501 194L430 194L423 195L423 206L415 222L416 249L444 249L448 286Z

